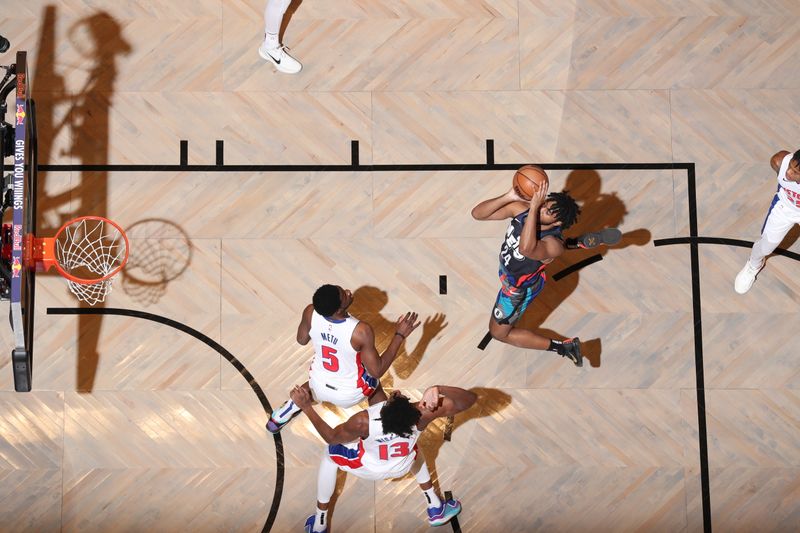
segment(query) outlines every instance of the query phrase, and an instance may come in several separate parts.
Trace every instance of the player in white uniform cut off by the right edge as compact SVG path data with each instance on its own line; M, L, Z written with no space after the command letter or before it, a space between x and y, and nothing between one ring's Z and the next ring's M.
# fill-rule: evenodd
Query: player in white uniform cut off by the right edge
M753 244L750 258L736 275L733 288L739 294L750 290L764 268L766 257L775 251L792 226L800 223L800 150L794 154L780 151L769 163L778 174L778 190L761 227L761 238Z

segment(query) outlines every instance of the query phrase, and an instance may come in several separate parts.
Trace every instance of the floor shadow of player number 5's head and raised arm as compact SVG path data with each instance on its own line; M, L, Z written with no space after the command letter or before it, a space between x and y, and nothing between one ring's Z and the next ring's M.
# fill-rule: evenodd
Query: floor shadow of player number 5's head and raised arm
M382 291L377 287L365 285L359 287L353 292L353 303L350 305L348 312L359 320L367 322L372 326L375 332L375 347L379 353L382 353L389 343L392 341L395 332L396 320L385 318L381 314L381 310L386 307L389 302L389 296L386 291ZM390 372L387 372L381 378L381 384L384 388L392 388L394 379L392 373L400 379L408 379L414 370L419 366L422 357L428 349L430 342L447 327L445 322L445 315L436 313L422 320L420 329L422 335L417 341L414 349L409 351L409 341L405 341L397 353L397 358L392 363ZM415 331L413 336L417 335Z

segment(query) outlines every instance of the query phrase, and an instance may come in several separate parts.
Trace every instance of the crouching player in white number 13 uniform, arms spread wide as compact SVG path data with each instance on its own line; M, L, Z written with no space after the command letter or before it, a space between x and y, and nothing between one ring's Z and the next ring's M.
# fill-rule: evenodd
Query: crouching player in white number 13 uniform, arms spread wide
M425 495L428 523L432 526L446 524L461 512L461 502L442 501L436 494L417 439L434 419L469 409L478 398L475 393L438 385L429 387L422 400L411 403L397 391L388 399L380 391L370 398L369 408L335 428L314 410L306 389L295 387L291 397L328 443L317 477L317 512L306 520L306 533L327 533L328 505L336 489L339 469L371 480L397 478L412 472Z

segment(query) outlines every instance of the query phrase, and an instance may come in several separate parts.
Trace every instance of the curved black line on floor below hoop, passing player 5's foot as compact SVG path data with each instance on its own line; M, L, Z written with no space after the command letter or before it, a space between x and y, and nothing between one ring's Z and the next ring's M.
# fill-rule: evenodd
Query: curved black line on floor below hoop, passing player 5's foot
M261 389L261 386L256 382L256 379L253 375L245 368L241 361L239 361L234 355L226 350L221 344L219 344L214 339L208 337L207 335L197 331L194 328L187 326L186 324L182 324L175 320L160 316L154 315L152 313L145 313L144 311L135 311L133 309L119 309L113 307L48 307L47 308L48 315L117 315L117 316L129 316L134 318L142 318L144 320L150 320L152 322L157 322L159 324L164 324L165 326L173 327L179 331L187 333L194 337L195 339L205 343L209 346L212 350L216 351L222 357L228 360L228 362L233 365L233 367L242 375L242 377L247 381L250 385L250 388L253 389L253 392L258 397L258 401L261 402L261 406L264 408L264 412L267 414L267 417L272 414L272 406L267 399L266 394ZM264 430L266 431L266 429ZM283 439L281 439L280 433L276 433L273 435L275 439L275 460L276 460L276 472L275 472L275 492L272 496L272 505L269 509L269 514L267 515L267 520L264 522L264 527L262 532L266 533L272 529L273 524L275 523L275 517L278 514L278 508L281 504L281 496L283 494L283 481L284 481L284 453L283 453Z

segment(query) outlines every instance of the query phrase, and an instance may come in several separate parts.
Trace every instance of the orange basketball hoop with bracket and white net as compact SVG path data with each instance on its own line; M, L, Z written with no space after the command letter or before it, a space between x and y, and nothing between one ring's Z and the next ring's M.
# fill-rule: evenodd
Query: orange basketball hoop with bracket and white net
M67 279L69 290L94 305L111 292L111 281L128 261L128 236L116 222L98 216L66 222L54 237L26 235L23 262L28 268L52 267Z

